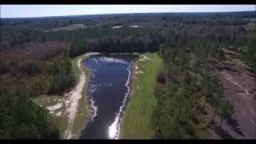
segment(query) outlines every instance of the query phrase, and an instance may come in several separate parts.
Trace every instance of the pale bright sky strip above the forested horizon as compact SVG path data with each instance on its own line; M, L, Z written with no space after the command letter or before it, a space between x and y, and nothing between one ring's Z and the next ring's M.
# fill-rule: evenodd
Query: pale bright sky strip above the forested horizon
M0 5L1 18L80 14L225 12L255 10L256 5Z

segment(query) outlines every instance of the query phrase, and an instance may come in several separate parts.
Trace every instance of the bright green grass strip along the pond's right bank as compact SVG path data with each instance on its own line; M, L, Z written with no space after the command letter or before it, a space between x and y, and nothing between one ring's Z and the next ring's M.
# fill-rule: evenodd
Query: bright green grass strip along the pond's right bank
M162 59L156 53L145 55L153 62L138 60L134 64L132 95L122 118L120 138L153 138L151 114L157 101L154 84L156 74L162 68ZM143 74L138 73L139 70Z

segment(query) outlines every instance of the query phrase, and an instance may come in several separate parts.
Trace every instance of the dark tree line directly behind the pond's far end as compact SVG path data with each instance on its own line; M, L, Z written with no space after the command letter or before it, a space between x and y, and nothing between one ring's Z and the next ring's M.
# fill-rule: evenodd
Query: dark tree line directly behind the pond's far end
M82 44L77 43L70 46L70 57L76 57L88 51L97 51L103 53L116 52L146 52L157 51L162 43L161 35L125 38L96 38L90 39Z

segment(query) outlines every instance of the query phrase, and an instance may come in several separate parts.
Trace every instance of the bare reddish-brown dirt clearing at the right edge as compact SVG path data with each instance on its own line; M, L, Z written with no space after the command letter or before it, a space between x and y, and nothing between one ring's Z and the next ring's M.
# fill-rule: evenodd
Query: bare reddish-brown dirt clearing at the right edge
M256 138L254 77L246 70L233 72L216 67L212 74L222 82L224 96L234 106L234 114L223 122L222 128L233 138Z

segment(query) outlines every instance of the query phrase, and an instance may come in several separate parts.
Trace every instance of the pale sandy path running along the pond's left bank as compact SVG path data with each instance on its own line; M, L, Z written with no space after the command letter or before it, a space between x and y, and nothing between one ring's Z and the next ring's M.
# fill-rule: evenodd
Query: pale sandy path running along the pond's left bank
M89 56L91 54L98 54L98 53L84 54L82 56L82 58ZM74 90L72 90L68 94L66 94L69 97L68 101L67 101L67 103L68 103L67 112L68 112L69 123L68 123L67 129L66 129L66 132L65 132L65 139L70 139L73 136L72 128L73 128L74 118L77 113L78 101L80 98L82 98L82 90L86 83L86 74L82 70L82 66L81 66L82 58L79 58L78 62L77 62L78 69L81 71L81 74L79 76L79 82L78 82L77 86L75 86Z

